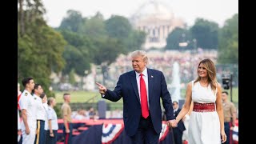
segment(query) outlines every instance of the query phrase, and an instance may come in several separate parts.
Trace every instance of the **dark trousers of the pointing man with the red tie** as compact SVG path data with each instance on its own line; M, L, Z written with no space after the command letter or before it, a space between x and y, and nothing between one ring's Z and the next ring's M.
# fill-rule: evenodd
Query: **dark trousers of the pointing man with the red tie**
M136 134L130 138L133 144L158 144L159 136L149 116L148 118L141 117Z

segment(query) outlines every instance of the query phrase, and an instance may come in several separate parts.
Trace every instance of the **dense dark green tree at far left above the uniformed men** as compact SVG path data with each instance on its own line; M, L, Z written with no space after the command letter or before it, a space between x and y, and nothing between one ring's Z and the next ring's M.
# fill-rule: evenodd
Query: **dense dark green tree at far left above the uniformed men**
M62 52L66 42L48 26L36 28L38 33L34 31L18 38L18 73L22 78L33 77L47 92L51 72L59 72L64 67Z

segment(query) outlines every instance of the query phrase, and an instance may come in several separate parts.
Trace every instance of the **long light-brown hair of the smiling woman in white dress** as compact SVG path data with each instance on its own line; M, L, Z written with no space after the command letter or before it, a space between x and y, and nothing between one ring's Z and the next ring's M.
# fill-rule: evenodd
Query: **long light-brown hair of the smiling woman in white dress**
M203 59L201 62L199 62L198 67L200 66L200 64L203 64L207 70L207 77L208 77L208 82L210 83L210 87L212 90L216 90L217 87L217 79L216 79L216 68L214 65L214 62L211 61L209 58ZM195 82L200 81L200 77L198 74L198 78L196 78Z

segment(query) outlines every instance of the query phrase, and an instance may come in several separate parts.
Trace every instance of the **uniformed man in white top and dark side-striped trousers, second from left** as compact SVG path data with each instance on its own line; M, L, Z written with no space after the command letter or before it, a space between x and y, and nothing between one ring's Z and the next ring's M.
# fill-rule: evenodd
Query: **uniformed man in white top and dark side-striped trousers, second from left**
M37 134L35 136L34 143L44 144L46 141L46 133L44 130L46 121L46 110L44 106L42 106L42 98L40 98L40 95L43 93L42 86L38 83L35 84L33 91L33 97L36 98L37 105Z

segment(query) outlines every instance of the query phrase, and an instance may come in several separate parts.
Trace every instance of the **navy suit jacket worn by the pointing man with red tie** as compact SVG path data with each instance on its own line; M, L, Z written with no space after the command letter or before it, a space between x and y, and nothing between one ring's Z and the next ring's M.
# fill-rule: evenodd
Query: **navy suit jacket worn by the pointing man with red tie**
M164 75L159 70L147 69L148 74L148 90L150 103L150 116L153 122L154 130L160 134L162 130L162 104L166 110L166 119L174 119L174 109L167 90ZM103 98L112 102L117 102L120 98L123 100L123 120L125 124L126 134L133 136L138 130L138 124L142 116L140 98L138 94L138 86L135 71L132 70L122 74L117 82L117 86L113 91L106 90Z

